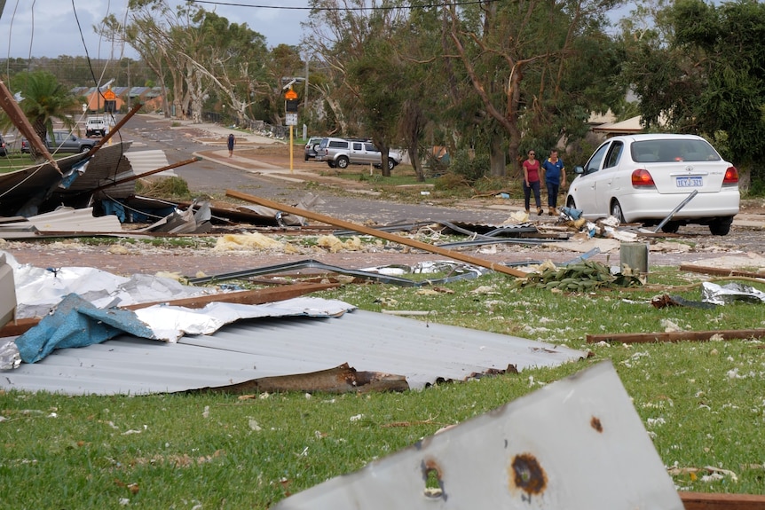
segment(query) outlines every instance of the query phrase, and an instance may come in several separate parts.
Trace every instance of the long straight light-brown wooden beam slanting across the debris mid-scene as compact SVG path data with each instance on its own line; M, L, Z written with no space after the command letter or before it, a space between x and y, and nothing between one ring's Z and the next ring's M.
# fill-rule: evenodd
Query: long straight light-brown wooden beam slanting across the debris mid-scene
M415 239L407 239L405 237L401 237L396 234L391 234L390 232L372 229L364 225L352 224L351 222L339 220L337 218L333 218L332 216L320 215L318 213L313 213L311 211L306 211L300 208L294 208L292 206L280 204L279 202L262 199L260 197L248 195L247 193L237 192L234 190L226 190L225 194L226 196L232 197L234 199L246 200L248 202L259 204L267 208L277 209L285 213L290 213L297 216L304 216L306 218L309 218L324 224L335 225L336 227L340 227L350 231L357 231L368 236L374 236L375 238L387 239L389 241L393 241L398 244L402 244L408 247L415 247L423 251L435 253L438 255L443 255L443 256L452 258L454 260L458 260L464 263L470 263L473 265L477 265L479 267L485 267L486 269L501 272L504 274L509 274L510 276L514 276L517 278L526 277L526 273L524 273L524 271L518 271L516 269L509 268L508 266L503 265L501 263L493 263L493 262L480 259L474 256L464 255L464 254L461 254L460 252L455 252L453 250L450 250L444 247L429 245L428 243L423 243L422 241L418 241Z

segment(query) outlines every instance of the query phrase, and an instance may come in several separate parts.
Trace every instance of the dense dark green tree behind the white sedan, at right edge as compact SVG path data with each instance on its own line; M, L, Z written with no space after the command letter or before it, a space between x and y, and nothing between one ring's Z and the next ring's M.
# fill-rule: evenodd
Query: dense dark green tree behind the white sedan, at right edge
M649 28L645 28L649 27ZM622 78L649 129L709 137L765 190L765 4L646 3L622 23ZM749 173L751 169L751 174Z

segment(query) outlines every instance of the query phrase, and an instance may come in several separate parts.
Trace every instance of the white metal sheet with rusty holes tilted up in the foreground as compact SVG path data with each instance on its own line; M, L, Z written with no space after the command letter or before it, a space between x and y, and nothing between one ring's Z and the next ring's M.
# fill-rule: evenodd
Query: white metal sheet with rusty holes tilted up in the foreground
M610 362L282 500L274 510L682 510Z

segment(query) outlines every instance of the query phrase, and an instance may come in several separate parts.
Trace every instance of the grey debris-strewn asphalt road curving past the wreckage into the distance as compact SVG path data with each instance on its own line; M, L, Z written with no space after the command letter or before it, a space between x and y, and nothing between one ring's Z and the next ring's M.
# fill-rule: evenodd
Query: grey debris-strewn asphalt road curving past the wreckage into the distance
M170 122L156 117L137 115L122 128L122 138L134 141L131 150L162 149L168 161L183 161L201 153L216 149L225 149L221 136L220 145L206 145L200 140L209 140L205 133L193 125L170 129ZM302 153L296 153L302 163ZM312 162L321 166L321 163ZM323 166L321 167L323 169ZM391 224L397 222L450 221L473 224L501 224L517 210L512 201L497 204L496 200L466 200L449 207L439 206L428 201L425 196L419 204L402 204L379 200L368 194L335 192L327 187L317 187L312 182L295 182L285 178L269 177L259 172L246 169L234 169L214 160L203 160L177 168L176 173L183 177L193 192L207 193L213 197L223 197L225 190L233 189L253 194L265 199L288 205L295 205L312 193L319 197L319 203L312 210L323 215L333 216L359 224ZM288 175L288 172L286 172ZM282 174L283 177L284 174ZM761 200L762 201L762 200ZM765 215L762 204L749 203L742 209L734 221L730 234L712 236L706 227L685 226L678 232L674 241L692 246L693 254L753 252L765 254ZM549 220L549 216L532 216L532 220Z

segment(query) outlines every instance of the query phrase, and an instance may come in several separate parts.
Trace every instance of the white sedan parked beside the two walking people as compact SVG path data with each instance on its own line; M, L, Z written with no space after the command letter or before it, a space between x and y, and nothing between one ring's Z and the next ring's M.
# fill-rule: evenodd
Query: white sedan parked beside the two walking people
M662 224L674 233L683 224L706 224L714 235L730 231L738 213L738 170L704 138L646 134L612 137L576 167L566 207L596 219L615 216L623 223Z

